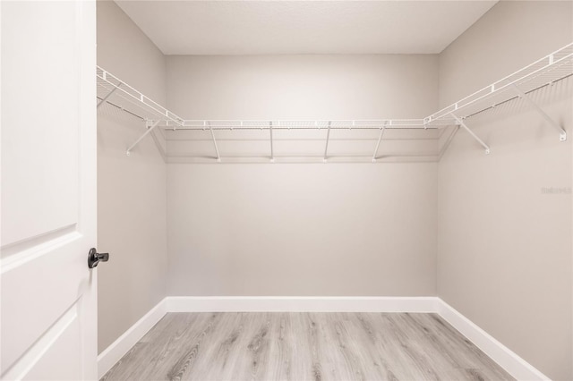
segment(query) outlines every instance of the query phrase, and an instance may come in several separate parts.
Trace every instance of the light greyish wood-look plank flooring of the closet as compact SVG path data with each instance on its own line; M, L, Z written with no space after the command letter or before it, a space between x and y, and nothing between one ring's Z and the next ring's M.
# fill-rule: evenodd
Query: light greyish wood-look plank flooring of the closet
M435 314L169 313L102 380L513 379Z

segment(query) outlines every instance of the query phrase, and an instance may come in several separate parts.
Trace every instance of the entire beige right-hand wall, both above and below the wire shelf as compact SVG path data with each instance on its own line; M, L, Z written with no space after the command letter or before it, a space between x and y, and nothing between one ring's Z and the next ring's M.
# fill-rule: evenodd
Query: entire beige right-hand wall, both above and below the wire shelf
M440 55L441 106L569 43L572 5L495 5ZM439 165L438 295L553 379L573 377L571 89L533 96L567 142L514 102L466 120L491 155L460 130Z

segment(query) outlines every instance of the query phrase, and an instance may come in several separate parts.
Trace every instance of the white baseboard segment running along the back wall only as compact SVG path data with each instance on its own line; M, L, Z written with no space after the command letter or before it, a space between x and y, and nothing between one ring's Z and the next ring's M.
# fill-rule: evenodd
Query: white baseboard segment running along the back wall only
M169 312L435 312L435 297L170 296Z

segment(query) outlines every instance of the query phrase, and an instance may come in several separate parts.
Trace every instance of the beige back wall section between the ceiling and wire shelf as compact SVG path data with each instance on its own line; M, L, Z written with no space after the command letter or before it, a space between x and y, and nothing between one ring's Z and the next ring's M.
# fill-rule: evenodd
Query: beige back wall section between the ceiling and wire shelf
M437 55L170 55L167 103L187 119L423 118L437 74Z

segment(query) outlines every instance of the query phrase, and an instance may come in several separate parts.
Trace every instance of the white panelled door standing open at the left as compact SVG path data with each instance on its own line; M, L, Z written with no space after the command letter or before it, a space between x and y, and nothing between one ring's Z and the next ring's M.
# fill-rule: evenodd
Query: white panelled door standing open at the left
M2 1L0 374L97 378L95 2Z

